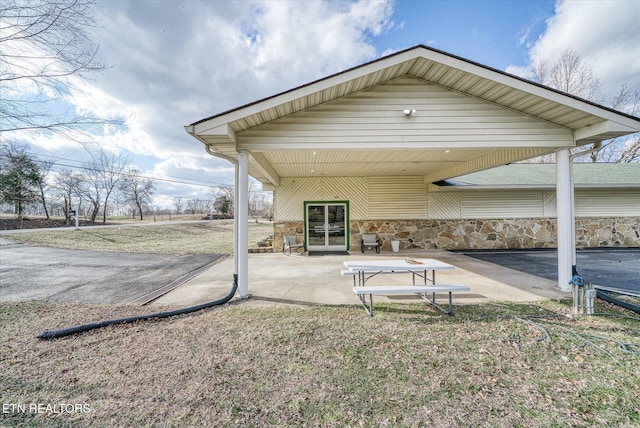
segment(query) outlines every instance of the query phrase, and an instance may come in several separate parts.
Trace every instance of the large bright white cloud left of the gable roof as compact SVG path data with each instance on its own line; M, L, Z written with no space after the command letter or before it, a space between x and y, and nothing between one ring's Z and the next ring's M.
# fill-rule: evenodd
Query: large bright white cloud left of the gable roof
M138 163L153 176L231 183L231 165L206 155L183 125L375 58L372 38L393 27L392 6L392 0L99 0L94 36L112 67L95 81L73 82L66 101L79 113L122 118L125 126L95 129L91 139L29 139L49 151L91 140L134 164L143 155ZM202 191L158 186L158 194Z

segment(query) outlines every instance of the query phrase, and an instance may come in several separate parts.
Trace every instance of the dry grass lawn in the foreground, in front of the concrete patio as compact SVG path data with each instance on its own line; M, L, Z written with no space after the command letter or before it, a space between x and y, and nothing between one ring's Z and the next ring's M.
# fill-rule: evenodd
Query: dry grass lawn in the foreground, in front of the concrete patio
M145 308L0 305L7 426L621 426L640 424L640 320L602 302L246 308L37 332ZM621 346L635 344L635 346ZM46 407L45 407L46 409ZM55 410L55 409L54 409Z

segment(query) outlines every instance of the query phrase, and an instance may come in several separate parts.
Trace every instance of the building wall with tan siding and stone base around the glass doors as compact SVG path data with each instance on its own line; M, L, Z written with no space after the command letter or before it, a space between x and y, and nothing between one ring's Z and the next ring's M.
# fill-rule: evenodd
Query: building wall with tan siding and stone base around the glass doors
M445 189L445 190L443 190ZM640 247L640 189L576 189L576 245ZM274 192L274 245L304 236L304 201L349 200L350 250L555 248L553 190L427 191L421 177L296 178Z

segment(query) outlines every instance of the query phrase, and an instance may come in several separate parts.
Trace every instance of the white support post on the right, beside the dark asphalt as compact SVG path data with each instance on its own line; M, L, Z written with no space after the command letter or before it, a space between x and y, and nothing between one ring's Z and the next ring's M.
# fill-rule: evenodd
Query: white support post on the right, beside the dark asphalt
M556 207L558 221L558 287L571 291L571 266L574 260L575 242L573 230L573 182L571 180L571 160L569 149L556 153Z

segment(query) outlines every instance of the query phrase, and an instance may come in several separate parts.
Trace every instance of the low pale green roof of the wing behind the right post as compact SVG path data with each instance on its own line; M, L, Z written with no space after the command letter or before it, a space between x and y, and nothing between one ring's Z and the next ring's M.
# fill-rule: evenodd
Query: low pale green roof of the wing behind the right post
M574 163L579 187L640 187L640 163ZM448 180L454 186L555 186L555 164L514 163Z

